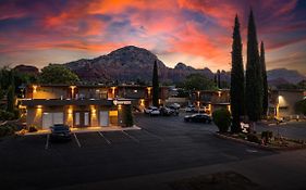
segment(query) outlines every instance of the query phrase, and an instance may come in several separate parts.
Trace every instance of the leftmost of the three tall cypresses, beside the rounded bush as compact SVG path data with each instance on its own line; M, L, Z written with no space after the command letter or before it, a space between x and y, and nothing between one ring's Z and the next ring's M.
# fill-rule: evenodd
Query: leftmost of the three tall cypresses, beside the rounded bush
M240 117L244 115L244 69L242 59L242 39L238 16L235 17L232 43L232 71L231 71L231 113L233 123L232 132L241 130Z

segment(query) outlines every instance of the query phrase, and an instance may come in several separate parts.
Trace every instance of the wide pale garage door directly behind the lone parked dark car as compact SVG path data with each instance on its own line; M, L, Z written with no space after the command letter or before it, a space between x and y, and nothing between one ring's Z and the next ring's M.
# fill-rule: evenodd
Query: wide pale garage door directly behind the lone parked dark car
M54 124L63 124L64 114L62 112L44 112L42 114L42 129L49 129Z

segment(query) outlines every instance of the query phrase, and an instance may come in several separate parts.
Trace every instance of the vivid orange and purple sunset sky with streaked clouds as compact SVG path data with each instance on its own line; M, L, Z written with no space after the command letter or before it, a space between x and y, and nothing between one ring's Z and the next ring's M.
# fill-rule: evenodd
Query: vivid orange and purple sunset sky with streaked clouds
M250 7L268 69L306 74L305 0L0 0L0 65L41 68L133 45L170 67L229 71L234 16L245 54Z

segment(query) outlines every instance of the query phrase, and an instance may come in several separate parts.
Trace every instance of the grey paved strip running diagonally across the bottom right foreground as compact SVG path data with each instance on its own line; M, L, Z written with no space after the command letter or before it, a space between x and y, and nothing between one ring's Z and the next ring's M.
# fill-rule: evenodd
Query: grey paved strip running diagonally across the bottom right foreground
M218 172L236 172L259 185L258 189L305 189L306 150L290 151L254 160L136 176L110 181L75 185L60 189L158 189L170 190L169 181Z

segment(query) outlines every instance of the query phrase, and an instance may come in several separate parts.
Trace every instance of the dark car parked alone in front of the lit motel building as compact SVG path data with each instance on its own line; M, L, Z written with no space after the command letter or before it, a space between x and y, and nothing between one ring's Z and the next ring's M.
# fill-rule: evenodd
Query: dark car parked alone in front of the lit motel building
M72 134L70 127L63 124L56 124L50 127L50 140L51 141L68 141L71 140Z

